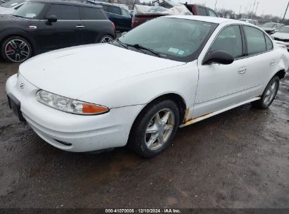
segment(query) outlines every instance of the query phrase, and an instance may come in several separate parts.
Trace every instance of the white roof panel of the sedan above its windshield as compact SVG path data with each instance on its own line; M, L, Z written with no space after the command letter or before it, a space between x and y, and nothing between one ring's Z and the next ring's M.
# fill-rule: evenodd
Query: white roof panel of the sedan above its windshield
M212 16L201 16L201 15L167 15L165 17L197 20L197 21L203 21L207 23L216 23L216 24L227 23L227 22L241 23L241 24L244 23L243 21L240 21L240 20L233 20L229 18L219 18L219 17L212 17Z

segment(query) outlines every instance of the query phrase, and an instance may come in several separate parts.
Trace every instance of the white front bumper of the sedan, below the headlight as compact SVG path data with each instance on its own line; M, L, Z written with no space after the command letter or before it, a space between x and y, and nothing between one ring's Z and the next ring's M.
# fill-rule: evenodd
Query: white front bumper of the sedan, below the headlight
M143 108L141 105L127 106L113 108L103 115L75 115L39 103L35 99L38 90L21 75L13 75L6 82L6 92L20 101L23 118L34 132L65 151L85 152L124 146L131 125Z

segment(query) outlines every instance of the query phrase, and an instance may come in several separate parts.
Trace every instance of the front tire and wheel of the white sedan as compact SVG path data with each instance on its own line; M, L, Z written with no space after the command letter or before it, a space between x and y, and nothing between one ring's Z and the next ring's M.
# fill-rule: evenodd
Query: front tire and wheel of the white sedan
M179 108L174 101L150 104L136 118L128 146L140 156L152 158L172 143L178 126Z

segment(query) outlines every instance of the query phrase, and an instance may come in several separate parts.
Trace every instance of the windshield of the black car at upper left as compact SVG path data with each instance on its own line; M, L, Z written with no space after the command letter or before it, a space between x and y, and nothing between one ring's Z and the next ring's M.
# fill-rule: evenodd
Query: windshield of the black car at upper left
M28 1L26 4L21 6L17 11L12 15L21 17L21 18L37 18L39 13L41 13L45 4L39 2Z

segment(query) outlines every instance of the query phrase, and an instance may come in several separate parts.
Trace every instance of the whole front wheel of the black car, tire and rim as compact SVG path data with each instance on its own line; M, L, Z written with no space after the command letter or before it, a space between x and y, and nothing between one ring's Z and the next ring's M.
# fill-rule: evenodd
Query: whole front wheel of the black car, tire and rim
M1 55L10 63L22 63L32 56L32 46L23 37L8 37L1 45Z

